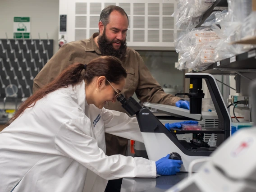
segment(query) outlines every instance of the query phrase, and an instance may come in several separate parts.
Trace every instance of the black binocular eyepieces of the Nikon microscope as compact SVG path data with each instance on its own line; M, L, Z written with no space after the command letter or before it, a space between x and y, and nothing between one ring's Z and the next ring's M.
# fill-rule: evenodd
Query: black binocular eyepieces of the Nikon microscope
M122 104L123 109L131 116L137 114L142 109L142 105L140 105L132 96L126 99L123 94L121 94L116 99Z

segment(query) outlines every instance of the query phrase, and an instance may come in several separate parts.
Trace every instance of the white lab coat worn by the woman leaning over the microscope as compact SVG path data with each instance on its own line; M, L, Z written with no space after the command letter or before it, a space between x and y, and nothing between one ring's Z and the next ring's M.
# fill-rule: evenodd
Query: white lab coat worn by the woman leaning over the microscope
M142 142L137 119L85 98L84 82L61 88L0 132L0 192L103 192L108 179L156 176L154 161L105 155L104 132Z

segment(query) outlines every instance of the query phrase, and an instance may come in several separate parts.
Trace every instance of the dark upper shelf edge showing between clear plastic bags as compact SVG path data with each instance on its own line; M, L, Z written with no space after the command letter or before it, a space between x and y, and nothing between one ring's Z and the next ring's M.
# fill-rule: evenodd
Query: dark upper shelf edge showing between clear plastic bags
M218 10L223 11L227 8L228 8L227 0L216 0L214 4L206 11L206 13L203 14L201 22L195 28L201 27L201 24L205 22L206 18L208 18L213 11L218 11Z

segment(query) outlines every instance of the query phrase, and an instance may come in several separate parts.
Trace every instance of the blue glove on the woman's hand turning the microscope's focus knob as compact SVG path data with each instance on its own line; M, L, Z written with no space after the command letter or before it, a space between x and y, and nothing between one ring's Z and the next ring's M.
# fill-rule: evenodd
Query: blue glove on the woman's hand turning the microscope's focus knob
M179 168L181 168L181 164L183 164L182 160L170 160L169 157L170 154L155 161L156 174L176 175L176 173L179 173Z

